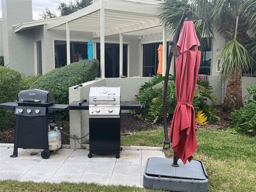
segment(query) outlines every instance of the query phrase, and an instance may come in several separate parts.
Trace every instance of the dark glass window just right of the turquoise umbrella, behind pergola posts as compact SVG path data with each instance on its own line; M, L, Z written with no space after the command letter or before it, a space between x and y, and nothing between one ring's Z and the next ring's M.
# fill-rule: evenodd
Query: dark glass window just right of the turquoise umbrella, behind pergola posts
M119 44L105 43L105 78L119 77ZM100 61L100 43L96 43L96 57ZM123 44L123 74L127 77L128 45ZM100 77L100 66L98 69Z

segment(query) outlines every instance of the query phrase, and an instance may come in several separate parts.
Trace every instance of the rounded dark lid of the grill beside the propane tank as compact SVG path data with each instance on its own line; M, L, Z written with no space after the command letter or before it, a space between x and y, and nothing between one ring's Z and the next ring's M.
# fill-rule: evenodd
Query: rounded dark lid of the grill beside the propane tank
M52 93L40 89L23 90L17 100L19 106L50 106L54 102Z

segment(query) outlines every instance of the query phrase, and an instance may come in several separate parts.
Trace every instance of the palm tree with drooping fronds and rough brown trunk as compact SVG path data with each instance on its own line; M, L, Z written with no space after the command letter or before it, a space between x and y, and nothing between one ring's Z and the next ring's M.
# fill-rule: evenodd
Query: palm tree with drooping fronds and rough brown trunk
M185 8L194 12L195 30L201 45L221 35L226 45L221 48L220 75L227 82L223 110L232 111L242 103L242 71L248 71L256 56L256 1L252 0L166 0L161 5L161 20L174 32ZM238 20L237 20L238 17ZM246 47L250 48L246 50Z

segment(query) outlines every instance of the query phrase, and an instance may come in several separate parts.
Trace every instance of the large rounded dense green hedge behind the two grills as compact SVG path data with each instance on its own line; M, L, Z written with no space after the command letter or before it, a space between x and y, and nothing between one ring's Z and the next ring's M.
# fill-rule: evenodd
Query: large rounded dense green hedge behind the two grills
M30 89L49 91L54 95L56 104L68 104L69 87L94 80L98 65L98 60L91 59L56 68L38 78ZM68 112L58 112L58 116L68 119Z

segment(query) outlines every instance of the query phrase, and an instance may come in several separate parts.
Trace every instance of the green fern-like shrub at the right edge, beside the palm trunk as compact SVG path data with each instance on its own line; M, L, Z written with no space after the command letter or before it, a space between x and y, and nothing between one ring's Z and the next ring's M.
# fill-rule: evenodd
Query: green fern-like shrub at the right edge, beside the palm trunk
M244 107L231 112L231 129L242 134L256 135L256 83L249 84ZM252 97L251 97L252 96ZM252 98L252 99L251 99Z

